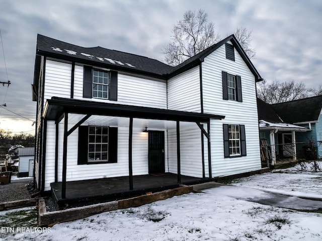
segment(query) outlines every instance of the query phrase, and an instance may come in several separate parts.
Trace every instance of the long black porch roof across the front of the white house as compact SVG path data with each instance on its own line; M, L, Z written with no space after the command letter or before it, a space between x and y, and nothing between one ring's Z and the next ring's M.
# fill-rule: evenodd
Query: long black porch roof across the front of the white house
M43 117L56 121L63 112L78 114L95 114L133 118L161 119L182 122L208 122L210 119L223 119L224 115L159 109L135 105L123 105L60 97L47 99Z

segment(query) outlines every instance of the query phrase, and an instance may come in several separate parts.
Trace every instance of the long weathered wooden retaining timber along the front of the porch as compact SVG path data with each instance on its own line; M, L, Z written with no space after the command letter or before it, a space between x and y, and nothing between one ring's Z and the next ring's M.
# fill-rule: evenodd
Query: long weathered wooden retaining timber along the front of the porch
M46 212L45 200L40 199L38 209L38 225L48 226L55 223L67 222L89 217L106 211L113 211L129 207L138 207L147 203L155 202L158 200L164 200L173 196L178 196L190 192L193 192L192 186L181 186L170 190L145 194L124 200L95 204L85 207L75 207L53 212Z

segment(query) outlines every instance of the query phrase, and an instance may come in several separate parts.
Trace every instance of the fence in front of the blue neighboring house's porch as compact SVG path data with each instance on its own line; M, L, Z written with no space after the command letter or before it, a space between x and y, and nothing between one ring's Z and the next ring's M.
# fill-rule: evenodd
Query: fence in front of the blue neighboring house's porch
M267 145L261 140L262 166L322 159L322 141Z

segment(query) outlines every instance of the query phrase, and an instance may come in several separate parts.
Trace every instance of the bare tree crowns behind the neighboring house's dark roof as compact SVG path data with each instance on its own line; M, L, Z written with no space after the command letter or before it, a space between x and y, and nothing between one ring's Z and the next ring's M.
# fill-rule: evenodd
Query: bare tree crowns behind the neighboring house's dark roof
M268 83L266 80L257 84L257 96L267 103L281 103L309 96L309 89L303 82L295 83L274 81Z

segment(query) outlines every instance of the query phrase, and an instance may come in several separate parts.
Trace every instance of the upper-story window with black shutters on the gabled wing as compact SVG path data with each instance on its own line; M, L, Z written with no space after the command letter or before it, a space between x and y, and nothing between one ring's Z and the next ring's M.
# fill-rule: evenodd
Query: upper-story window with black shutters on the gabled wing
M243 102L240 76L222 71L222 98Z

